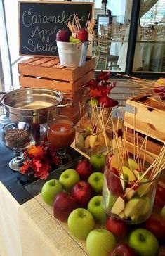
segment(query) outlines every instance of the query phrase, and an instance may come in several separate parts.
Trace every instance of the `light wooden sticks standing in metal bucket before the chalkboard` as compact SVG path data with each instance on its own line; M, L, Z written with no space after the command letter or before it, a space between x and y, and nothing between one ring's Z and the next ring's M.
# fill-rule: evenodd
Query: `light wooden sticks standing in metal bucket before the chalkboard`
M88 34L92 34L93 28L95 27L95 20L89 20L89 17L90 13L88 14L88 19L86 20L84 29L88 32ZM72 19L72 23L70 21L67 23L67 27L72 33L76 33L78 30L82 29L77 13L74 13L74 19Z

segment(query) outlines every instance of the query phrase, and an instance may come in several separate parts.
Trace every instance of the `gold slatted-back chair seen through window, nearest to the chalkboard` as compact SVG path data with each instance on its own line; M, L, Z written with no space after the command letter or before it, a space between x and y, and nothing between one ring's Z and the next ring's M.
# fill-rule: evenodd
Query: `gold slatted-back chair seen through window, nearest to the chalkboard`
M110 55L111 42L107 39L107 36L98 36L98 60L95 65L95 69L98 68L98 64L105 62L105 70L108 69L110 63L110 70L112 67L119 67L117 65L118 56Z

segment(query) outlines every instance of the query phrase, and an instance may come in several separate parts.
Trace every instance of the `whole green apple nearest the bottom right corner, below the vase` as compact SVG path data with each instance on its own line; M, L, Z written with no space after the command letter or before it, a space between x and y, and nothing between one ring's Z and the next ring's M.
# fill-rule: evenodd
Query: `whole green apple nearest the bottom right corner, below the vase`
M147 229L132 231L128 243L140 256L156 256L159 250L157 238Z

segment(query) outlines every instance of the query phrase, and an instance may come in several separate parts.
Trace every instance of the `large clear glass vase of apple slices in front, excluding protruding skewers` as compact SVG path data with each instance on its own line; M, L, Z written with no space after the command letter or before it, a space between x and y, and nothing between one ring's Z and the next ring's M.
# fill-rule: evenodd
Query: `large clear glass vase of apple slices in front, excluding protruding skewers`
M138 224L152 213L159 174L153 175L155 160L148 153L137 160L131 153L121 158L121 151L106 155L103 206L107 215Z

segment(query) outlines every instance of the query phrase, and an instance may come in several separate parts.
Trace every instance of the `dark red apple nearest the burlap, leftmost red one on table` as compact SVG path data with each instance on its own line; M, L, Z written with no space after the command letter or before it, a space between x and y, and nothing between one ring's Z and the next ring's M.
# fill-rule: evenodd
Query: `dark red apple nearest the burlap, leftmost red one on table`
M54 217L62 222L67 222L70 212L77 207L77 200L69 193L62 191L55 196L53 203Z

